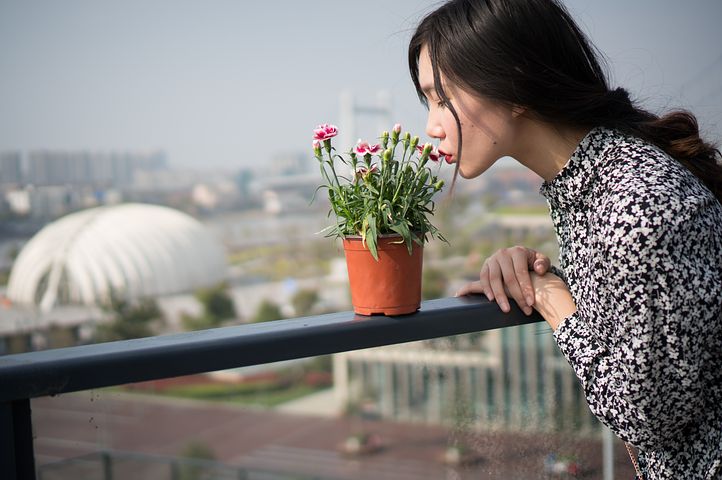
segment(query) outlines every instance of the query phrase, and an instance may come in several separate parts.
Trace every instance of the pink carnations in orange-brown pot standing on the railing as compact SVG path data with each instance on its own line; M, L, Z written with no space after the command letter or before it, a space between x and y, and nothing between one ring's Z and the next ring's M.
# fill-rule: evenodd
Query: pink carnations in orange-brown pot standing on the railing
M351 302L361 315L401 315L421 304L423 246L446 241L429 221L434 195L444 181L430 168L439 152L394 125L380 143L361 141L345 156L336 153L333 125L314 130L319 162L335 224L324 231L343 238Z

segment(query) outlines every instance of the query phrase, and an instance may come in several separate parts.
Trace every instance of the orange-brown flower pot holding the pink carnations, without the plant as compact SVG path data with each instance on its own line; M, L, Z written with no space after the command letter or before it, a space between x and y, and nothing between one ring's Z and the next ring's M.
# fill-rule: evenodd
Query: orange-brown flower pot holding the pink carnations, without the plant
M344 238L354 312L403 315L419 309L423 247L414 244L409 255L400 241L397 235L380 236L376 261L361 237Z

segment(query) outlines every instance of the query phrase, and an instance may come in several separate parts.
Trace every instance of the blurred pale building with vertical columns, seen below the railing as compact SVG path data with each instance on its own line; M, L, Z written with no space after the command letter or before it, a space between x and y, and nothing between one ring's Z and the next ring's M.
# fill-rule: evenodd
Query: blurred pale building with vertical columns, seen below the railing
M334 356L347 409L470 429L597 432L551 331L523 325Z

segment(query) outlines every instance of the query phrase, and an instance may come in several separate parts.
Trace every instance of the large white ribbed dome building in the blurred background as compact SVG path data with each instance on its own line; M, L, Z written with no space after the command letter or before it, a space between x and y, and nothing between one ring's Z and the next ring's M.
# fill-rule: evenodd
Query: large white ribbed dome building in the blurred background
M197 220L167 207L122 204L67 215L20 252L7 296L48 311L188 292L225 280L221 244Z

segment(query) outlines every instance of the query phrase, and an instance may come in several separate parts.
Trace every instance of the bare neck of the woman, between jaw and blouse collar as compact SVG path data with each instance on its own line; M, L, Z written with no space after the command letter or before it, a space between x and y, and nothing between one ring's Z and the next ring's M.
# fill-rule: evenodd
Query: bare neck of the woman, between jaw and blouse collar
M589 133L589 128L561 127L531 118L524 122L514 158L546 181L557 176Z

